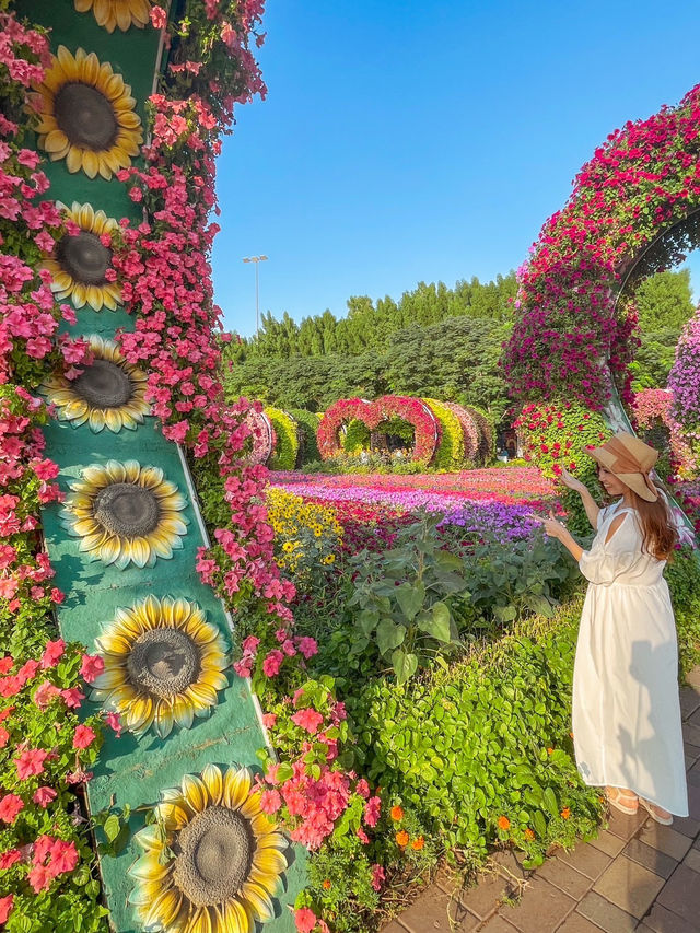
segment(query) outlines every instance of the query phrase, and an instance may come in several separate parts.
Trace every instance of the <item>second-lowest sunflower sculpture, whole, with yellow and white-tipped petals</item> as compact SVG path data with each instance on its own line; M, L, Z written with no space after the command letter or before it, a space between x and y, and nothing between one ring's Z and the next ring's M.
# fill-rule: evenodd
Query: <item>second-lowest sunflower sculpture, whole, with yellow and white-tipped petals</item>
M175 724L189 728L195 716L209 715L229 683L223 635L187 599L148 596L117 609L95 644L105 667L91 699L119 713L138 736L151 726L161 738Z

